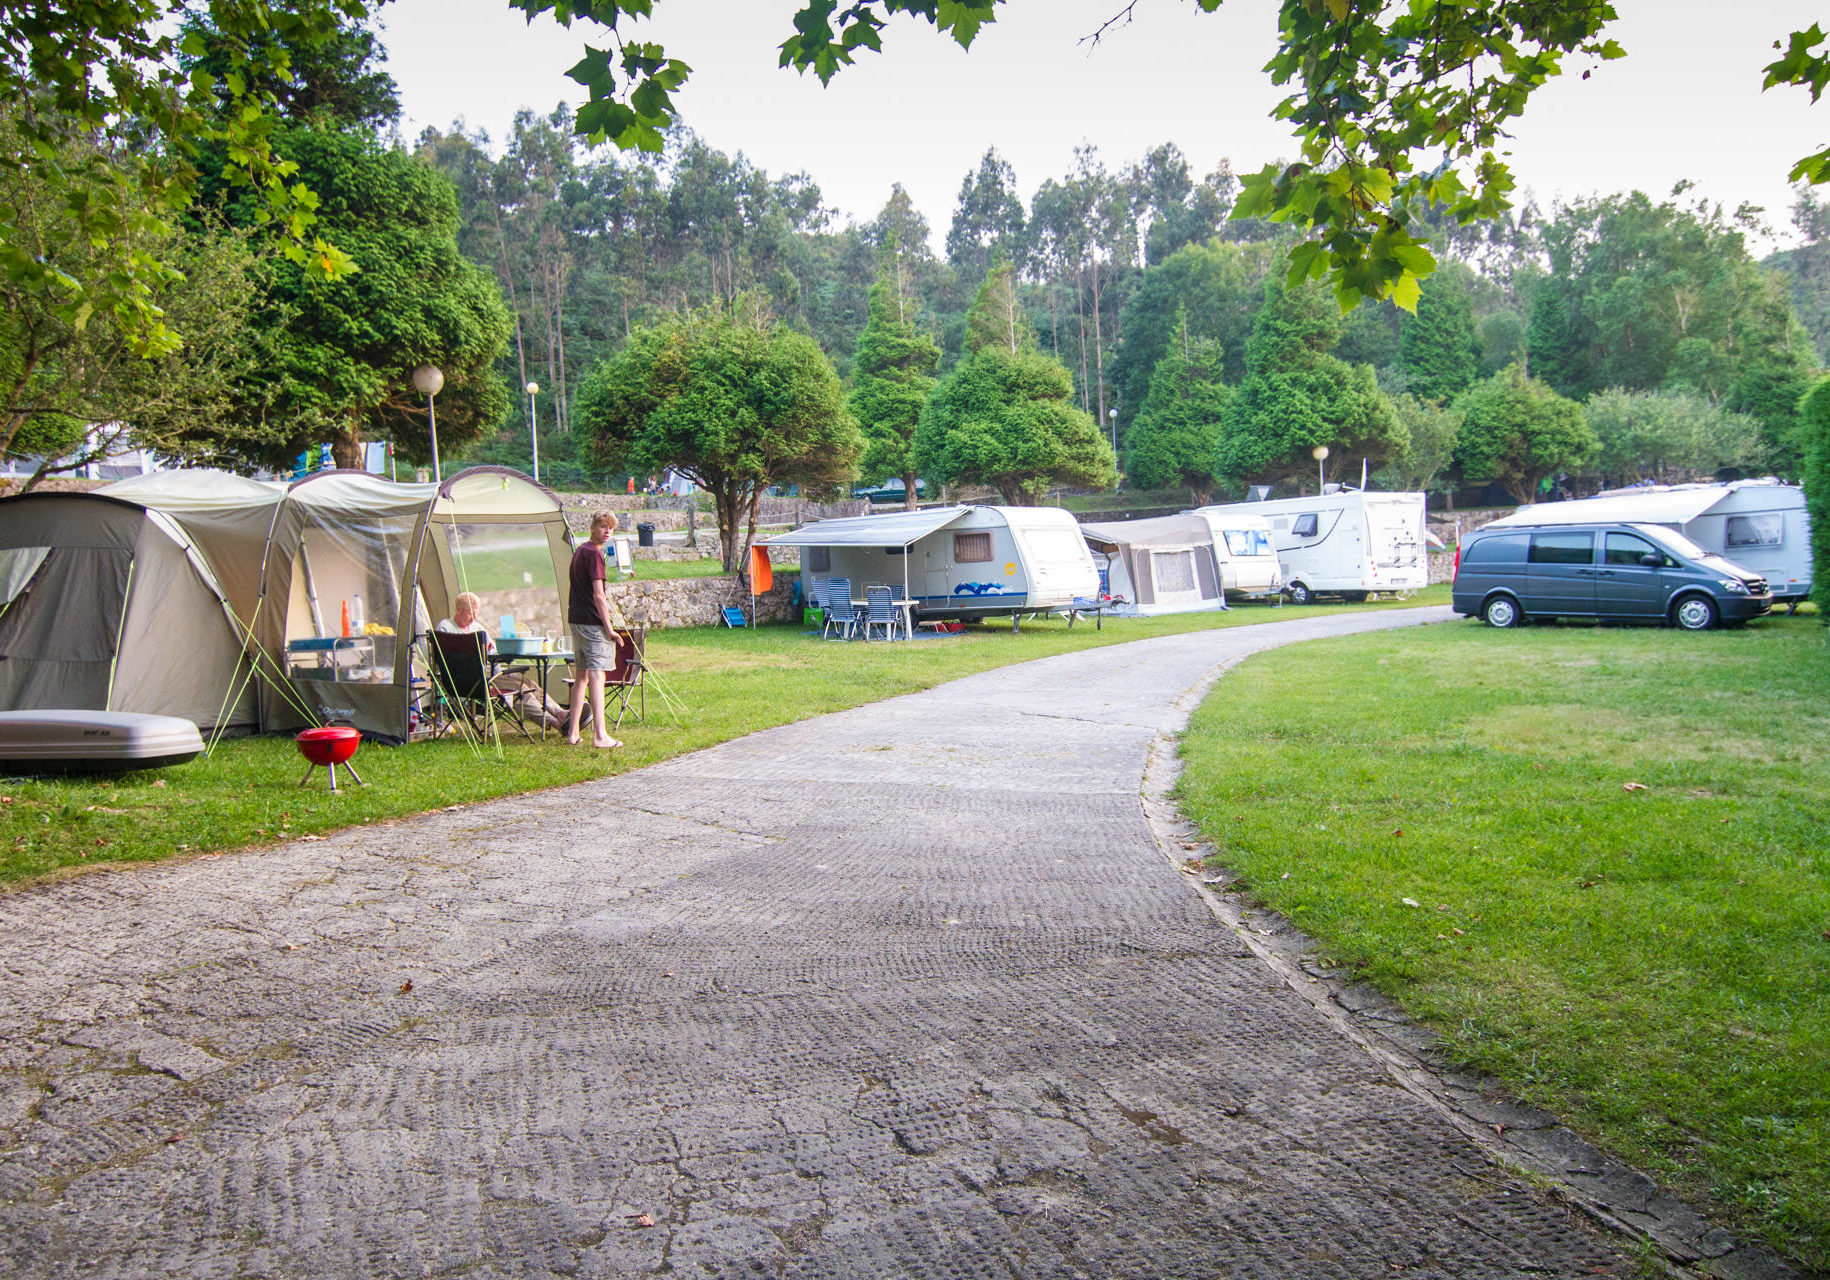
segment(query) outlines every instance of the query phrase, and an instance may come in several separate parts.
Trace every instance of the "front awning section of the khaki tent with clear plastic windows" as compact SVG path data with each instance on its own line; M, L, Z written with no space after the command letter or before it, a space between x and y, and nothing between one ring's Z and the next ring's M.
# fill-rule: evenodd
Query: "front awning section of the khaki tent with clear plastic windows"
M448 617L463 590L483 599L490 624L512 615L534 634L564 619L571 538L558 498L505 467L441 485L326 471L285 487L179 471L106 493L159 509L220 566L260 729L342 721L404 740L412 637Z

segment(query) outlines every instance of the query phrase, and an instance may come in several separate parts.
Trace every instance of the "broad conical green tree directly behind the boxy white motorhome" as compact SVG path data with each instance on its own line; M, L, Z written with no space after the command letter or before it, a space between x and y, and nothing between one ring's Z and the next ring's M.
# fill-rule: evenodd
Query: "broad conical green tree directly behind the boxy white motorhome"
M1305 480L1312 450L1329 447L1336 478L1365 460L1378 467L1404 452L1404 427L1367 364L1330 355L1340 308L1319 286L1265 286L1265 306L1246 344L1246 375L1215 449L1215 471L1233 483Z

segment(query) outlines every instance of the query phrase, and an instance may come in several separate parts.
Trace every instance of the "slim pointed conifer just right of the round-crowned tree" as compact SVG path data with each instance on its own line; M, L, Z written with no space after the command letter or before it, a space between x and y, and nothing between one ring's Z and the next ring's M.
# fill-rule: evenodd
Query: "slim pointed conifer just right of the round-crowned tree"
M871 483L900 476L910 511L915 509L915 428L939 363L941 348L915 328L900 245L891 242L871 286L871 319L851 357L853 386L845 407L864 430L864 476Z

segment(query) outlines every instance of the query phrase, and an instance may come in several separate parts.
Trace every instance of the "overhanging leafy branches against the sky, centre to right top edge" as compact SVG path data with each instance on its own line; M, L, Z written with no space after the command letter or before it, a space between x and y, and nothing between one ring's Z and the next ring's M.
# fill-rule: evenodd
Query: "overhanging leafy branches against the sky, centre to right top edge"
M613 33L646 18L657 0L512 0L529 16L593 18ZM1222 0L1195 0L1213 13ZM880 51L884 26L908 15L963 48L996 20L1003 0L807 0L781 42L781 66L831 82L858 51ZM1113 0L1114 16L1087 38L1129 22L1136 0ZM1288 284L1327 280L1343 309L1391 298L1416 309L1418 284L1435 271L1429 222L1462 225L1512 205L1502 156L1508 128L1539 88L1566 64L1587 79L1625 57L1603 29L1605 0L1285 0L1277 53L1266 64L1290 86L1276 115L1290 121L1299 157L1244 179L1233 218L1268 218L1307 234L1288 264ZM1825 35L1814 26L1766 68L1766 88L1806 86L1815 103L1830 82ZM591 49L573 79L591 90L578 128L595 141L657 150L673 123L672 93L688 73L657 44L620 42L620 59ZM620 81L619 81L620 66ZM1830 148L1799 161L1793 179L1830 178Z

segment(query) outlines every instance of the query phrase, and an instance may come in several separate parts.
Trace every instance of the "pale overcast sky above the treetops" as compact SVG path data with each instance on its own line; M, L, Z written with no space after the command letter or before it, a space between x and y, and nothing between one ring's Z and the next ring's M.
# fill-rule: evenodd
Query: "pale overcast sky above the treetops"
M692 66L675 93L683 123L725 152L743 152L772 176L805 172L847 218L877 216L900 183L946 236L961 179L988 146L1016 170L1023 198L1074 167L1093 145L1109 168L1175 143L1195 174L1230 161L1255 172L1288 159L1286 126L1268 119L1279 90L1263 73L1276 51L1274 0L1228 0L1200 13L1191 0L1136 0L1133 20L1096 46L1083 37L1125 0L1010 0L970 51L913 18L897 18L884 53L860 53L829 88L776 66L798 0L661 0L628 35L659 40ZM1766 207L1773 236L1793 242L1792 163L1825 145L1830 101L1804 90L1760 92L1773 42L1819 18L1810 0L1616 0L1610 35L1627 59L1539 90L1510 143L1521 194L1541 205L1643 190L1726 209ZM582 101L565 79L586 40L551 18L533 26L507 0L395 0L382 11L388 70L412 139L463 121L492 141L514 114Z

